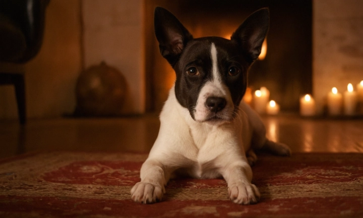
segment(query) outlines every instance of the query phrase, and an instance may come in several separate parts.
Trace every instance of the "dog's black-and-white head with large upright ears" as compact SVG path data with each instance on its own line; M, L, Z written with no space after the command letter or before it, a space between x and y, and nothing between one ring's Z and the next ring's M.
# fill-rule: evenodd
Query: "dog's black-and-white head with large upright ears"
M155 9L155 34L161 55L176 73L175 96L195 121L231 121L247 88L247 73L261 52L269 11L250 15L232 34L193 38L177 18Z

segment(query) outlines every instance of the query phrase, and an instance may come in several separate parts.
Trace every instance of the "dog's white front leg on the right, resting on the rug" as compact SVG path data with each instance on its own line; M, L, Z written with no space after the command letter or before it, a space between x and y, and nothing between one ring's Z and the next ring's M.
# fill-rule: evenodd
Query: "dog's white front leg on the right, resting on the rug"
M252 170L247 161L228 166L222 175L228 184L231 201L238 204L255 204L259 201L260 192L251 184Z

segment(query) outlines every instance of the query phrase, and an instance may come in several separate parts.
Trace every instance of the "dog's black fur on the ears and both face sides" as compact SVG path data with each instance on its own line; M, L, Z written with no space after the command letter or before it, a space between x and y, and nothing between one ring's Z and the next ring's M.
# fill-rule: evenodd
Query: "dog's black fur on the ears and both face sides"
M198 93L211 79L211 43L218 49L221 79L230 89L235 107L239 105L246 92L248 70L260 55L268 31L268 9L250 15L232 34L231 40L221 37L194 39L174 15L159 7L155 9L154 25L161 55L176 73L175 96L180 105L188 108L192 118Z

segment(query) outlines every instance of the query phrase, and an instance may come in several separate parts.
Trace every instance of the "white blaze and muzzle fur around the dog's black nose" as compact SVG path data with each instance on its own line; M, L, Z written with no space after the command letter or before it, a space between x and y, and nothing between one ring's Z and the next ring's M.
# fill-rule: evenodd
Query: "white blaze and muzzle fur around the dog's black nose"
M212 79L206 82L199 92L194 118L196 121L203 122L216 116L215 113L208 110L205 102L208 97L222 97L226 99L227 104L222 111L217 113L217 116L220 119L231 120L234 109L233 102L228 87L222 82L218 68L218 52L214 43L211 44L210 53L212 60Z

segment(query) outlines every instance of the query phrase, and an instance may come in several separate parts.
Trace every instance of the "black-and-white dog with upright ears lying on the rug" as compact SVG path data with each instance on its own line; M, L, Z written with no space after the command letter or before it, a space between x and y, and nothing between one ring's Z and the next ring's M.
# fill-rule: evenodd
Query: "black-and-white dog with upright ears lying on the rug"
M260 192L251 183L253 149L288 156L287 145L266 138L259 116L241 100L250 66L261 52L269 10L251 14L232 34L193 38L169 11L156 8L155 35L161 55L176 73L160 114L157 139L131 189L132 200L155 203L171 176L223 177L231 201L254 204Z

